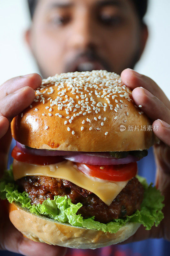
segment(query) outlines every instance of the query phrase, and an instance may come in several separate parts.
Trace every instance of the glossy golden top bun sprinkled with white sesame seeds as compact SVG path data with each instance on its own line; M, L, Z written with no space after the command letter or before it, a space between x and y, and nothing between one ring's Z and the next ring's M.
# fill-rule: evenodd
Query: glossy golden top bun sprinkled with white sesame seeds
M129 151L158 140L115 73L63 73L44 79L35 92L32 105L11 123L13 138L31 148Z

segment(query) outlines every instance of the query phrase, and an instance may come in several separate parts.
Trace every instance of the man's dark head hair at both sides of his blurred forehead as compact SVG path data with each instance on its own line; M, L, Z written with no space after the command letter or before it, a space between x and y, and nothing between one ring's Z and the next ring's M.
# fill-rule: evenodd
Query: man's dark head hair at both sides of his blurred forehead
M27 1L28 1L30 15L32 19L38 0L27 0ZM139 19L142 22L144 15L147 11L148 0L131 0L131 1L135 5Z

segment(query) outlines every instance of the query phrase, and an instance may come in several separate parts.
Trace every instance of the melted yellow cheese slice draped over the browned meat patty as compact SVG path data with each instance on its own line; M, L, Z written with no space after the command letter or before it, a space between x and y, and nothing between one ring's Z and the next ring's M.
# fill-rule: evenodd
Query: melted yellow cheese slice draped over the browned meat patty
M14 159L13 175L14 180L33 175L69 180L77 186L91 191L107 205L112 203L128 183L128 181L108 181L90 177L79 171L76 167L70 161L50 165L35 165L22 163Z

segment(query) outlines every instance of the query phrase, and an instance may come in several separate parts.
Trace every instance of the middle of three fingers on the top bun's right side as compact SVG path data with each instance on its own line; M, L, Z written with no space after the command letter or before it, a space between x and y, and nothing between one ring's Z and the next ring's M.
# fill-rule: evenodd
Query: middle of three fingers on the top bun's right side
M143 87L137 87L132 91L132 97L137 106L153 121L156 119L170 122L170 110L151 92Z

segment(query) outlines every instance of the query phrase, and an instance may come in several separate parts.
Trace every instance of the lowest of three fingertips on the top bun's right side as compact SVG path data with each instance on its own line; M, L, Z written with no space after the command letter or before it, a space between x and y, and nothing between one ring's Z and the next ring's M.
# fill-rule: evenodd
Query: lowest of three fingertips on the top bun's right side
M170 147L170 124L158 119L153 122L152 127L158 127L157 129L153 129L154 133Z

